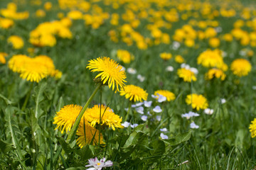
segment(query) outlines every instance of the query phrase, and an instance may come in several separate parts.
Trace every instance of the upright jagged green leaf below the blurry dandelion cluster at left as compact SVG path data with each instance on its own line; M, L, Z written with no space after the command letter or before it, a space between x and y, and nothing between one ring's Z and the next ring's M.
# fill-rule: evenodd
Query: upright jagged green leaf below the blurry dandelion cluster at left
M39 107L39 103L41 103L41 101L43 101L43 91L46 89L46 82L43 82L42 84L39 84L38 86L35 87L35 102L36 102L36 107L35 107L35 116L36 118L39 118L41 116L41 114L43 113L43 111L41 110L41 108Z

